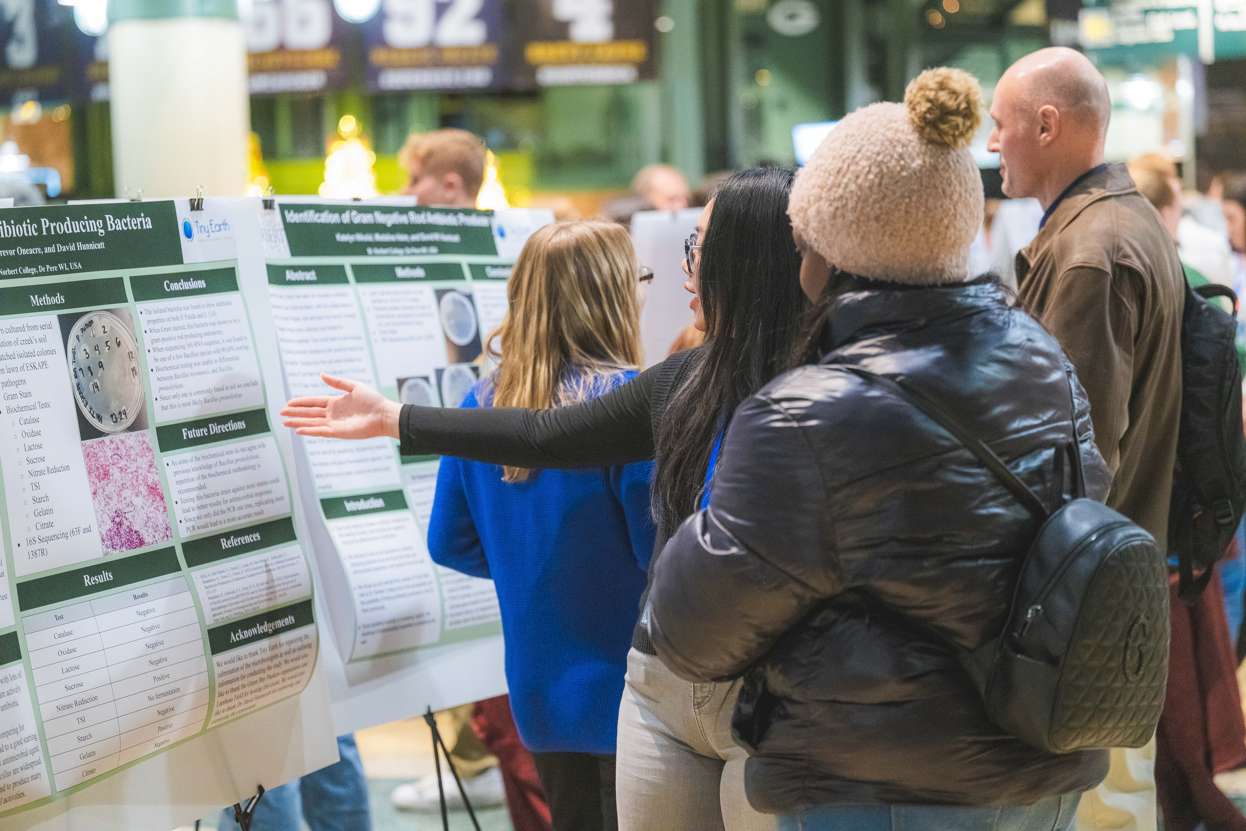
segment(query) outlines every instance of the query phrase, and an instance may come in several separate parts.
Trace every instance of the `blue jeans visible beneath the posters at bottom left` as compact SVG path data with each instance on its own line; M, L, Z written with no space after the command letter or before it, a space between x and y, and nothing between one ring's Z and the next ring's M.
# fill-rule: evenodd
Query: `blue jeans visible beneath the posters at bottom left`
M299 831L300 820L312 831L370 831L368 780L354 734L338 736L338 754L341 759L328 767L264 791L252 831ZM221 811L217 831L240 831L233 807Z

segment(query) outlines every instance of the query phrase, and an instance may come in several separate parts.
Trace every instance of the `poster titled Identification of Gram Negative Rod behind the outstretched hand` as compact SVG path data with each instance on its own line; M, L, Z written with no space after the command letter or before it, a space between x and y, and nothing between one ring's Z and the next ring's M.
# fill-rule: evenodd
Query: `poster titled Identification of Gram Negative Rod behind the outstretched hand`
M277 199L259 223L289 395L338 394L321 380L326 373L404 404L460 406L488 371L487 339L506 316L511 263L549 221L548 212L495 214L410 199ZM429 556L437 457L402 456L388 437L298 437L295 446L344 664L343 686L334 690L336 728L366 726L364 711L373 723L414 715L378 695L368 706L338 706L399 677L406 679L401 700L419 711L425 701L436 708L505 691L492 582ZM447 648L472 644L487 659L472 672L447 673L446 655L462 652ZM439 662L436 678L417 678ZM487 670L492 680L442 689L454 683L447 677L470 678L482 664L496 664ZM430 685L439 689L427 691Z

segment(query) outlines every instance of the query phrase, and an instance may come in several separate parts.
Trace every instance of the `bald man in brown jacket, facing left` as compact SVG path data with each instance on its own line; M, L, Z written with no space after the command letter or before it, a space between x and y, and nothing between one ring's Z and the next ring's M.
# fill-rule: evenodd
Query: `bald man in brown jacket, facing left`
M1104 163L1111 102L1070 49L1023 57L996 86L987 147L1004 193L1043 206L1017 255L1022 306L1055 335L1090 397L1095 441L1113 471L1108 505L1168 542L1181 411L1185 279L1176 245L1124 164ZM1155 743L1113 750L1078 829L1154 831Z

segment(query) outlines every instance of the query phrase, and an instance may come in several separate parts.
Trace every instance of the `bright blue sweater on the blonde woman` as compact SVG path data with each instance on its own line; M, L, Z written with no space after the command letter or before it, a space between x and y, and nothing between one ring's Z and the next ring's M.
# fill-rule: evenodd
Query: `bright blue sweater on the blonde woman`
M599 384L609 391L635 373ZM482 381L462 406L490 405ZM482 392L482 390L485 390ZM506 635L506 680L533 753L613 754L623 674L653 553L653 462L579 471L502 468L441 458L429 552L492 578Z

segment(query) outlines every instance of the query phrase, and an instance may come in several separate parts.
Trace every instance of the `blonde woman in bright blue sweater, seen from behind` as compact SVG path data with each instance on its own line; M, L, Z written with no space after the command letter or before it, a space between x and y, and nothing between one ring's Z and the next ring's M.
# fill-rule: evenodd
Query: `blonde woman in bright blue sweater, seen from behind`
M490 335L501 363L462 406L547 410L632 379L642 277L621 226L537 230ZM653 551L650 472L652 462L537 471L441 460L429 551L497 587L511 709L556 830L618 827L614 735Z

